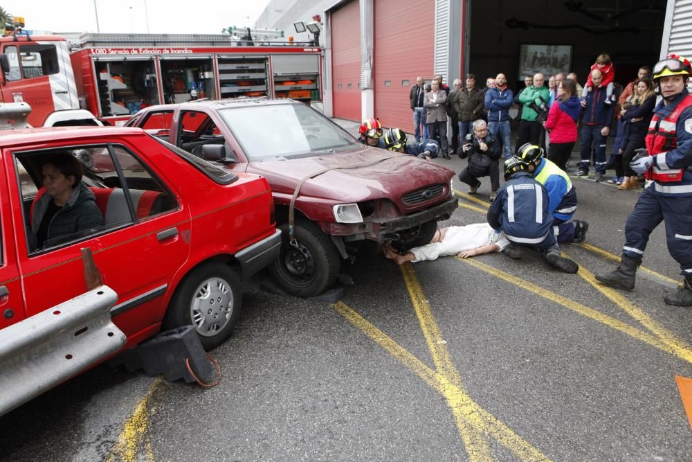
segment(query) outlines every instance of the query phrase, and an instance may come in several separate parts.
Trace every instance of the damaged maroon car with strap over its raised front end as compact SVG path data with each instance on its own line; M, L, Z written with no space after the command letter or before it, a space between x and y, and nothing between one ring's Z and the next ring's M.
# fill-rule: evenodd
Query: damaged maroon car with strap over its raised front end
M457 208L452 170L363 146L293 100L152 106L127 125L233 172L268 179L283 231L280 257L269 270L290 294L313 296L329 287L359 241L426 244L437 222Z

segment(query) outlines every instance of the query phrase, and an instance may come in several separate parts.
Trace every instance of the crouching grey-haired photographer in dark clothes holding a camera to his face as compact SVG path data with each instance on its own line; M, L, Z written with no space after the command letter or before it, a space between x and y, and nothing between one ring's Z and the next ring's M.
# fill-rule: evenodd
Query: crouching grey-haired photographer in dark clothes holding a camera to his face
M478 178L490 175L490 202L500 188L500 142L497 137L488 132L484 120L478 119L473 123L473 133L466 135L466 140L459 151L459 158L468 157L468 166L459 173L459 179L468 184L468 194L475 194L480 186Z

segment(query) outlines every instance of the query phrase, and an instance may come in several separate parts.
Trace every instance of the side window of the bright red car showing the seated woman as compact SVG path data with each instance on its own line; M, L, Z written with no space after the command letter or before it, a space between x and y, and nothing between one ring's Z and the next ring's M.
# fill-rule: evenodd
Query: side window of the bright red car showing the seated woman
M73 168L67 157L77 161L82 179L69 190L72 202L58 207L57 197L65 178L62 171ZM149 220L178 207L161 180L120 145L21 152L16 154L16 160L32 254ZM46 170L46 164L51 164L52 170ZM57 186L53 181L57 181ZM73 193L77 188L79 192ZM48 216L51 219L42 227Z

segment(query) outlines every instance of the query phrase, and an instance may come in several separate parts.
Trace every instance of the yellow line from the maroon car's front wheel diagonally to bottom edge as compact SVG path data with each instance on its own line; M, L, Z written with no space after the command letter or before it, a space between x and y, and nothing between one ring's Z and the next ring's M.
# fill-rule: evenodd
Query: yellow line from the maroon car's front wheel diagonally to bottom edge
M410 368L421 377L426 384L446 398L450 405L453 404L454 408L459 414L464 416L466 421L477 422L479 418L481 418L484 421L484 428L487 434L514 452L519 459L522 461L549 461L547 456L535 447L529 445L529 443L514 433L507 425L504 425L504 423L500 422L500 420L495 418L488 411L477 405L467 393L450 382L444 373L432 371L432 369L423 364L420 359L409 353L345 303L338 302L332 306L336 312L349 321L355 328L361 330L361 332L367 335L367 337L370 337L372 341L384 348L394 358L398 359L401 364Z

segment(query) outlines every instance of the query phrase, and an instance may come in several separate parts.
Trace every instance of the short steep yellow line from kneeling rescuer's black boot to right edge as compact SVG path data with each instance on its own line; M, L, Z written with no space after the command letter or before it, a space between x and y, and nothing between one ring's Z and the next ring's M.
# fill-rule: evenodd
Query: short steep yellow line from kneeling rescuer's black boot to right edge
M594 275L585 269L583 266L579 265L579 276L588 282L590 285L594 286L601 294L605 295L619 306L624 312L630 315L632 319L640 323L649 332L653 333L658 337L664 344L666 344L671 350L675 351L675 355L684 359L686 362L692 363L692 349L684 340L679 339L671 332L666 329L657 321L651 319L651 317L641 310L637 305L622 296L617 290L611 289L610 287L603 285L596 281Z

